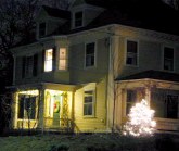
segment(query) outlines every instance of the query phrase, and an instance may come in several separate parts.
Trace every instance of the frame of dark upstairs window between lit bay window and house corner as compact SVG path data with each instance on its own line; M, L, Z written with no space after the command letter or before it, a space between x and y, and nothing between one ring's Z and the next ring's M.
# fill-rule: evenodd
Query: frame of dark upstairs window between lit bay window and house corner
M93 64L92 65L87 65L87 55L91 55L91 54L87 54L87 47L88 45L94 45L93 47ZM90 56L92 58L92 56ZM85 43L85 64L84 64L85 68L92 68L92 67L95 67L97 66L97 42L92 41L92 42L87 42Z

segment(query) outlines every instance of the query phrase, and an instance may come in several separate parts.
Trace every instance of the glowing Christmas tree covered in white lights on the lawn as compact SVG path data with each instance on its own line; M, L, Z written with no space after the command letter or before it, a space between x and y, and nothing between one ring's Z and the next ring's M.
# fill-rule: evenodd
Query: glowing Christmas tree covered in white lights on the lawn
M124 126L124 135L152 136L156 122L153 121L154 110L150 110L148 102L142 99L130 109L128 121Z

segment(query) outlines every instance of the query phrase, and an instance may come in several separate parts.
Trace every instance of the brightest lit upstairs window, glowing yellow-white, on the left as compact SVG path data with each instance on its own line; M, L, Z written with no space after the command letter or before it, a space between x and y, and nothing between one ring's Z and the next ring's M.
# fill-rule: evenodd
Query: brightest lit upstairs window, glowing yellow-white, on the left
M44 72L52 71L52 64L53 64L53 49L46 50L44 53Z

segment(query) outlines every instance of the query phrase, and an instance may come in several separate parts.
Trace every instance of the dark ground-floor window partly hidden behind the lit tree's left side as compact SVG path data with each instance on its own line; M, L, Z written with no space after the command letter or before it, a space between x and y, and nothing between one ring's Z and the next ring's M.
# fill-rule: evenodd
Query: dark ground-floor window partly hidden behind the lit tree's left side
M129 114L131 106L133 106L137 99L137 92L135 90L127 90L126 100L126 115Z

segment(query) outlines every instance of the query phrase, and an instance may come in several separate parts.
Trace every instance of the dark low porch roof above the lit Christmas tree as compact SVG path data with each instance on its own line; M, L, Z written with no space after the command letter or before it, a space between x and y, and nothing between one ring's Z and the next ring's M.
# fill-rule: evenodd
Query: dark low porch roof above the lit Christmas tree
M144 78L168 80L168 81L179 81L179 74L150 70L150 71L132 74L126 77L117 78L116 81L144 79Z

